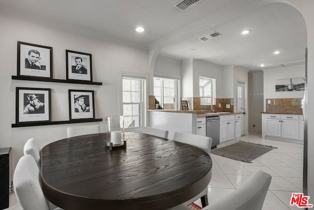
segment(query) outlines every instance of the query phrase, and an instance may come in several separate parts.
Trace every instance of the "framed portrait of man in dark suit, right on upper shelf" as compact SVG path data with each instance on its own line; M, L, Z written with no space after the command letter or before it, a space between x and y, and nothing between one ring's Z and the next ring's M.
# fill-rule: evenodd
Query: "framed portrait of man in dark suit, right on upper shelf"
M67 80L93 80L92 54L66 50Z

